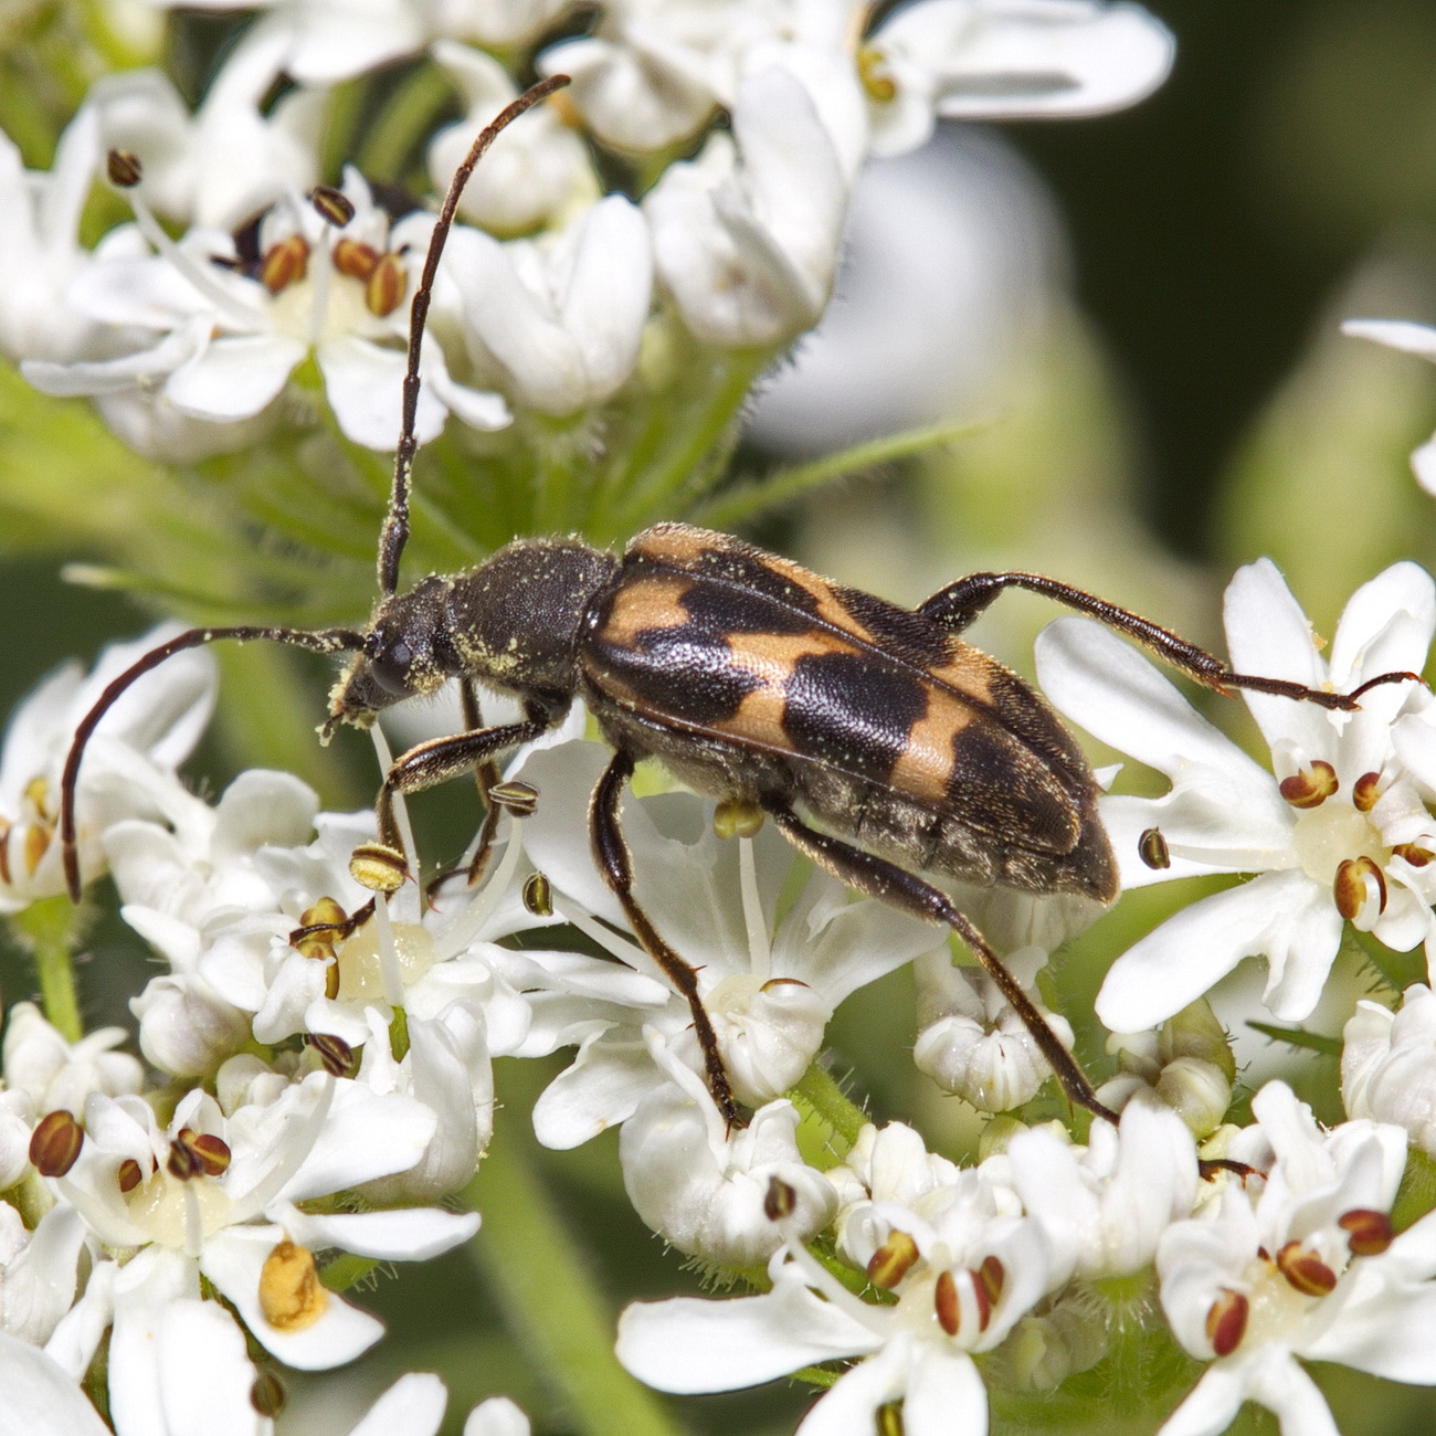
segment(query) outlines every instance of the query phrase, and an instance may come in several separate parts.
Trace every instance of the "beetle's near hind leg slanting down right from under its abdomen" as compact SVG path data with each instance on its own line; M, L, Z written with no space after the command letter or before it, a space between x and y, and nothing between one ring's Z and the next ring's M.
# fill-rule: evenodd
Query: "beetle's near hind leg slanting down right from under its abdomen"
M1057 1040L1057 1034L1047 1025L1047 1020L1037 1010L1037 1005L1024 991L1021 982L1008 972L1002 959L992 951L987 938L978 932L976 926L966 918L952 899L929 882L909 873L883 857L867 853L852 843L820 833L808 827L781 798L767 797L760 800L764 810L778 824L783 836L804 856L813 859L819 867L826 869L834 877L840 877L850 887L856 887L869 898L877 898L890 903L900 912L912 913L928 922L939 922L949 926L971 949L987 969L988 976L998 985L1002 997L1022 1020L1032 1041L1037 1043L1047 1064L1053 1068L1068 1101L1078 1107L1086 1107L1093 1116L1106 1117L1107 1122L1117 1122L1117 1113L1104 1107L1097 1100L1087 1074L1077 1066L1076 1058Z

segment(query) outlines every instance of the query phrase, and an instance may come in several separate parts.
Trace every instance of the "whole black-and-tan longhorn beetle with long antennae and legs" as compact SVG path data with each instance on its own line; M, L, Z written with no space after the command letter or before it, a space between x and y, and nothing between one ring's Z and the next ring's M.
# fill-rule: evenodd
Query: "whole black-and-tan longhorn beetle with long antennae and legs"
M742 1116L698 971L665 942L632 890L619 807L645 757L661 758L699 793L767 814L794 847L859 892L951 928L1017 1010L1067 1097L1114 1122L982 933L919 876L1100 902L1117 895L1081 750L1047 704L964 642L962 630L1004 589L1020 587L1109 623L1218 691L1354 709L1373 684L1414 675L1386 673L1353 694L1330 694L1235 673L1156 623L1034 573L974 573L908 610L686 524L648 528L622 554L573 537L518 540L467 573L431 574L398 592L418 447L419 346L454 211L495 135L564 83L554 76L536 85L482 131L434 227L411 309L402 432L379 537L381 599L369 626L191 629L116 678L76 729L65 765L60 836L72 896L80 890L75 787L85 745L119 695L181 649L267 639L352 652L330 695L326 738L340 722L365 727L401 699L461 679L468 731L409 748L379 788L379 836L401 864L408 859L396 794L474 770L493 787L495 755L538 737L582 698L615 750L589 807L595 862L639 942L688 1001L708 1086L729 1124ZM475 682L516 695L523 718L480 727ZM498 797L488 800L485 837Z

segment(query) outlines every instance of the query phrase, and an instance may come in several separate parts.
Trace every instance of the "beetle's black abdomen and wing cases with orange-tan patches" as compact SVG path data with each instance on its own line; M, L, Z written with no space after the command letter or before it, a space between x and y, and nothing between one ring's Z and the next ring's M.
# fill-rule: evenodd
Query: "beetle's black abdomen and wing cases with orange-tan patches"
M708 791L767 785L913 866L1111 896L1070 737L1021 679L922 615L725 534L659 526L630 544L580 662L632 715L625 741Z

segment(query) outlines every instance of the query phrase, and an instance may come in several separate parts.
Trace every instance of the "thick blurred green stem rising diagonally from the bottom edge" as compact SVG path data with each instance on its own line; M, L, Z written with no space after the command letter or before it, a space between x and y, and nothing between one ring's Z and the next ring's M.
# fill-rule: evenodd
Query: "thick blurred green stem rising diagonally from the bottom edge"
M613 1356L613 1314L537 1169L526 1113L526 1103L500 1109L465 1190L484 1213L474 1248L510 1330L582 1436L678 1436L663 1403Z

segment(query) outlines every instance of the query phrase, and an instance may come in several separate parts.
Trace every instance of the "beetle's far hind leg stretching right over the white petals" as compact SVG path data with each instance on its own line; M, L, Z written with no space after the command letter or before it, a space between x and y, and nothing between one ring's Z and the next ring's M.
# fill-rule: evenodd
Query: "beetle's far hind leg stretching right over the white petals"
M1262 678L1255 673L1236 673L1219 658L1208 653L1206 649L1188 643L1170 629L1153 623L1150 619L1133 613L1130 609L1119 607L1106 599L1099 599L1084 589L1074 589L1070 583L1058 583L1044 573L969 573L956 583L939 589L931 599L919 605L918 612L933 623L961 633L972 623L987 606L1004 589L1025 589L1028 593L1040 593L1045 599L1086 613L1088 617L1106 623L1133 643L1140 643L1149 653L1166 661L1173 668L1180 669L1188 678L1225 692L1229 688L1245 688L1256 694L1275 694L1278 698L1294 698L1304 702L1320 704L1323 708L1335 708L1351 712L1360 708L1357 699L1369 688L1381 684L1420 682L1419 673L1381 673L1363 684L1354 694L1328 694L1320 688L1308 688L1305 684L1295 684L1285 678Z

